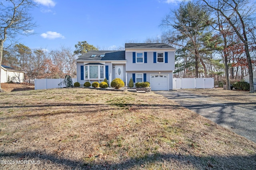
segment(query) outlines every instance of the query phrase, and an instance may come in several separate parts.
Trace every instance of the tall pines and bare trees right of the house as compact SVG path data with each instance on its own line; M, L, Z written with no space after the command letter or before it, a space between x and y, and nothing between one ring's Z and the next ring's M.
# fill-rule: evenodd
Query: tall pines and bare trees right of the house
M175 76L214 77L228 84L256 70L253 0L184 1L162 20L164 33L146 42L176 47Z

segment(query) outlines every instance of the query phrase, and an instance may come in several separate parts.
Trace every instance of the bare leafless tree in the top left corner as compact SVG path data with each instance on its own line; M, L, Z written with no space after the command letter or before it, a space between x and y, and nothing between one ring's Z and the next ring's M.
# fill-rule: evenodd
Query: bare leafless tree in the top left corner
M17 34L28 35L32 32L34 22L29 11L34 6L36 6L34 0L0 1L0 65L6 39L14 39ZM1 84L0 92L2 92Z

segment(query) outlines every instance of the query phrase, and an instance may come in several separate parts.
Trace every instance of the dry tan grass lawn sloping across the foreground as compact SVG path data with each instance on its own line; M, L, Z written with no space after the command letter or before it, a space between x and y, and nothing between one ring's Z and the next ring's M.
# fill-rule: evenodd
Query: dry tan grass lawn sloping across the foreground
M254 169L256 144L157 94L0 94L0 169Z

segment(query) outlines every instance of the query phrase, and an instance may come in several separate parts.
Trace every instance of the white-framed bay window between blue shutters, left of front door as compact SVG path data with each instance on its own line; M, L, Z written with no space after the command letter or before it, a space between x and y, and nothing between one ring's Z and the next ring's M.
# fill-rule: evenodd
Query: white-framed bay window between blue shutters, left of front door
M104 66L103 65L87 65L85 66L86 79L103 79Z

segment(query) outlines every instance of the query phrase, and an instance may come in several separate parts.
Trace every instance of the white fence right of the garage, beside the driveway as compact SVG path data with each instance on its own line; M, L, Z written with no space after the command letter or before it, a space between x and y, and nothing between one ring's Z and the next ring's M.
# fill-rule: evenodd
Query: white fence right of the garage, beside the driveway
M214 88L214 78L173 78L173 89Z

